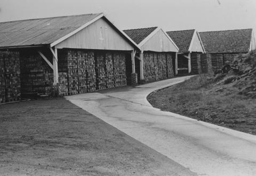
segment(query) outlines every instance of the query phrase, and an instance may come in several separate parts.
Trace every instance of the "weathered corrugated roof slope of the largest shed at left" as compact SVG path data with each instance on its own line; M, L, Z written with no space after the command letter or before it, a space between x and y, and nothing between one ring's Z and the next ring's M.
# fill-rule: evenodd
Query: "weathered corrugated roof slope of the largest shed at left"
M51 44L102 13L0 23L0 47Z

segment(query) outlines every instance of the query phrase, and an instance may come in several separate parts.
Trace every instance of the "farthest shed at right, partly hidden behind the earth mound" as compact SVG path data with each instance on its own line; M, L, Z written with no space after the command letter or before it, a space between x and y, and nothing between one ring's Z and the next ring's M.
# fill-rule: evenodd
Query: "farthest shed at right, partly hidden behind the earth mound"
M213 71L219 71L224 65L233 62L237 54L255 49L252 29L206 31L199 34L206 53L211 54Z

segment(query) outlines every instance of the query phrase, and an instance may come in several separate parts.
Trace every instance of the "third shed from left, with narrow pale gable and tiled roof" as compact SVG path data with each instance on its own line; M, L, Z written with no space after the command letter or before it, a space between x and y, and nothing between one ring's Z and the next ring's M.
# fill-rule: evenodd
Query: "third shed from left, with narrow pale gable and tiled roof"
M166 32L177 44L178 69L176 74L198 74L200 54L205 53L203 43L195 29Z

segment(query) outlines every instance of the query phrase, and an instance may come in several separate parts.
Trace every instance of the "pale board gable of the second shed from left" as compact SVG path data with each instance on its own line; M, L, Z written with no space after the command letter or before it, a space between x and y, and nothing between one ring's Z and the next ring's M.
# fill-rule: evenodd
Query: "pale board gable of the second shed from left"
M163 30L159 30L153 37L151 37L142 47L143 51L156 52L178 52L174 44L164 34Z

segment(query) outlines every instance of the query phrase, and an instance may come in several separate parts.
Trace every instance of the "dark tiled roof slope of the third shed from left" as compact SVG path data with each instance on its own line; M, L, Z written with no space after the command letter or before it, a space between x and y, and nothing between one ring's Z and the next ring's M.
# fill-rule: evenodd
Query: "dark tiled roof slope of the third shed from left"
M180 49L180 52L188 52L190 43L192 41L195 29L191 30L177 30L166 32Z

